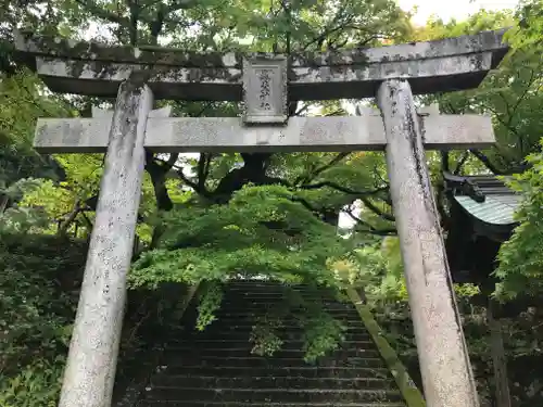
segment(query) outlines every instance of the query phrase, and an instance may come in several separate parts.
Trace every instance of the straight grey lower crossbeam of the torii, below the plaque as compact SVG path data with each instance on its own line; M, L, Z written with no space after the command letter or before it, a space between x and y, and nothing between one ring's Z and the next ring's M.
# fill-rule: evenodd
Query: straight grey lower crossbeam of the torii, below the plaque
M375 111L351 117L292 117L286 127L247 127L237 117L150 116L146 147L154 152L264 152L382 150L382 119ZM447 150L495 142L490 117L420 116L425 145ZM103 152L111 119L39 119L34 147L42 153Z

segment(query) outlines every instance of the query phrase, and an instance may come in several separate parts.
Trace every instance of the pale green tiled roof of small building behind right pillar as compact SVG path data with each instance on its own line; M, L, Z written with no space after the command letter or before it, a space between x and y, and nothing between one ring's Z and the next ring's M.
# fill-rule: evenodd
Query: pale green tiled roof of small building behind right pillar
M484 202L476 202L470 196L462 195L454 199L471 216L491 225L515 224L513 215L520 201L520 196L514 194L489 194Z

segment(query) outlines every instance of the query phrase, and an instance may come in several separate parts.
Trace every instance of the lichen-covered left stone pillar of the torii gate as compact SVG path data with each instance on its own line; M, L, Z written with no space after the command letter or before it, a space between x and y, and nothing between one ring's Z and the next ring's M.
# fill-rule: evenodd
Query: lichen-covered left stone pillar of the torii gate
M153 96L128 79L117 93L60 407L110 407Z

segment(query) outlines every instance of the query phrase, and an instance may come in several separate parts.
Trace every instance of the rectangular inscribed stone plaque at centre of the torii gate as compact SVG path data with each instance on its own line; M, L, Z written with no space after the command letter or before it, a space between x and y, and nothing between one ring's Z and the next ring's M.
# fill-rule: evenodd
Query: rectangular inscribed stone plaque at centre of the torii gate
M254 58L243 60L243 122L286 124L287 59Z

